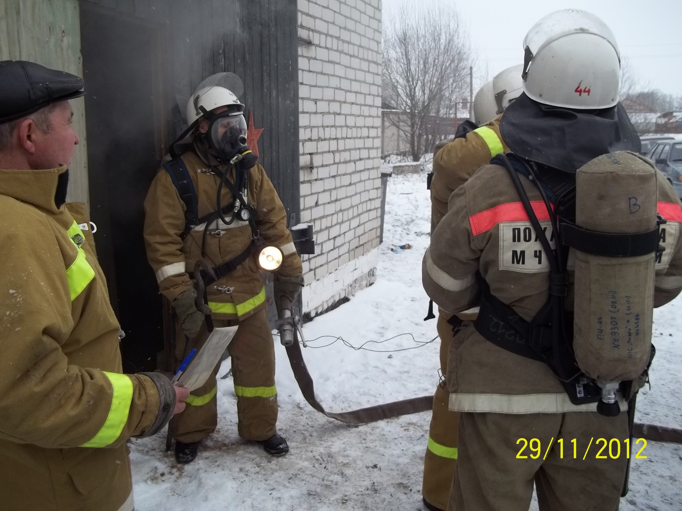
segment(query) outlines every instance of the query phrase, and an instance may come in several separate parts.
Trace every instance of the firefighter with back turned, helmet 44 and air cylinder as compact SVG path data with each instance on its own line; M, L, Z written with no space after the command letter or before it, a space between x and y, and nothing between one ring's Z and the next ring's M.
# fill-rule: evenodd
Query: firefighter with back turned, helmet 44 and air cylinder
M422 266L441 309L479 306L447 360L460 412L448 509L527 511L535 486L542 511L616 510L653 307L682 290L682 208L636 154L604 22L554 12L523 46L524 93L500 123L509 151L452 194ZM599 439L620 454L597 456Z

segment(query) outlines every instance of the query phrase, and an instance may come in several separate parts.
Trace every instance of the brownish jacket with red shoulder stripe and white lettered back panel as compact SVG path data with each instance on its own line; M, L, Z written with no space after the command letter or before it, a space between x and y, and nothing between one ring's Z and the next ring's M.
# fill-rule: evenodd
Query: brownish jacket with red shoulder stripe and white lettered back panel
M523 176L520 179L529 200L542 204L535 186ZM541 212L542 208L538 206L535 211ZM666 251L656 265L656 307L682 290L682 209L662 174L658 179L658 211L668 223L663 226ZM538 213L538 219L542 226L549 226L546 211L544 215ZM528 239L514 239L514 228L520 228L519 232L529 230ZM494 296L513 307L524 320L530 320L548 296L548 263L541 258L542 245L532 235L531 223L507 170L488 165L452 194L449 211L434 230L424 256L422 279L434 302L456 313L471 307L477 291L475 273L479 271ZM570 258L568 269L566 303L572 307ZM452 341L447 369L450 409L459 412L569 412L596 407L572 405L544 362L494 345L471 323L465 323Z

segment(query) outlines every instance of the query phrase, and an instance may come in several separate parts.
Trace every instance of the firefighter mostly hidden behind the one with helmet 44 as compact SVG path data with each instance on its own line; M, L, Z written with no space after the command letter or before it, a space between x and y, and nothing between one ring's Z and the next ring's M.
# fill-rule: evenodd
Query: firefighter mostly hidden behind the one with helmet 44
M478 168L488 164L492 156L509 150L500 136L500 116L522 92L521 67L509 67L484 84L474 97L473 123L462 123L455 139L436 151L430 187L431 232L447 213L447 200L451 193L473 176ZM476 123L481 127L477 127ZM447 351L454 330L463 320L473 320L475 317L475 309L456 315L439 309L436 329L441 338L442 375L447 373ZM439 382L433 399L421 486L424 506L430 510L446 508L457 459L459 414L449 411L448 395L445 381Z

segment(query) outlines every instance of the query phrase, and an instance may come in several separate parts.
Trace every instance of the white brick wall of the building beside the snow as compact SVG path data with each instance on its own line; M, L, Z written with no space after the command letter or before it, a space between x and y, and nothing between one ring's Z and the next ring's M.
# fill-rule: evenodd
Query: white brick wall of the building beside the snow
M299 151L301 221L315 229L315 255L303 256L303 309L315 315L374 279L381 0L298 0L298 25L312 41L299 45Z

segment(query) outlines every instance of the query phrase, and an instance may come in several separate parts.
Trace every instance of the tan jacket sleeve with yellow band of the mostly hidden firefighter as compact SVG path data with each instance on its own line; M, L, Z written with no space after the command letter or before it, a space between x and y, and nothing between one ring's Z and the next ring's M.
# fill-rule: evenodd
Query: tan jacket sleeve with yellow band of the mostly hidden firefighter
M479 168L490 163L494 155L509 151L500 136L501 117L470 131L466 138L456 138L434 155L431 232L447 213L447 201L452 192L466 183Z

